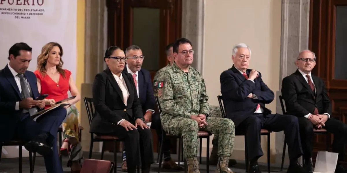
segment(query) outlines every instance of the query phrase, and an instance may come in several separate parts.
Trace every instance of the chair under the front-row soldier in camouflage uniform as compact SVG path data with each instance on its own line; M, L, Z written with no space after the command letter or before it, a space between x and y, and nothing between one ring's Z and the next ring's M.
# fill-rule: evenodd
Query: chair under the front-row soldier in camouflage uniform
M158 113L159 115L161 115L162 109L160 107L159 101L158 101L158 97L155 97L155 103L156 106L158 108ZM182 140L182 136L175 136L175 135L170 135L168 133L166 133L164 131L163 128L161 128L162 130L162 137L161 137L161 144L160 144L160 151L159 151L159 170L158 173L160 173L161 170L161 162L163 160L163 140L164 140L164 135L166 135L167 137L170 138L177 138L179 139L179 146L178 146L178 160L180 160L180 155L182 155L182 160L183 160L183 140ZM206 131L199 131L198 132L198 138L200 139L200 163L201 163L201 153L202 153L202 139L206 139L207 141L207 146L206 146L206 171L207 173L210 172L210 136L212 134L208 133ZM182 148L182 149L181 149ZM187 164L186 164L186 160L184 159L184 172L187 171Z

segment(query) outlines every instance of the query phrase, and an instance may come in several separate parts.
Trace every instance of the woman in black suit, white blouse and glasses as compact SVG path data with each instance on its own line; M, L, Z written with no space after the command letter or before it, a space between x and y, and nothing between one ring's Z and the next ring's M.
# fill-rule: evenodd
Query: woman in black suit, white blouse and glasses
M125 139L128 173L135 173L140 158L142 173L149 173L154 163L152 132L144 123L133 77L123 72L126 60L119 47L106 50L104 61L108 67L95 76L93 83L95 115L90 132Z

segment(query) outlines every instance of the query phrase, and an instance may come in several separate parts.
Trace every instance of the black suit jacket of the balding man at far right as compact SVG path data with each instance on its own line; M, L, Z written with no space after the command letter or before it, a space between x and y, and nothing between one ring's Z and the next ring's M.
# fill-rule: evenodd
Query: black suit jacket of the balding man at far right
M323 79L315 75L311 76L316 87L315 93L299 70L282 80L281 92L286 103L287 113L303 117L308 113L313 113L314 108L317 108L319 114L329 113L332 116L331 102Z

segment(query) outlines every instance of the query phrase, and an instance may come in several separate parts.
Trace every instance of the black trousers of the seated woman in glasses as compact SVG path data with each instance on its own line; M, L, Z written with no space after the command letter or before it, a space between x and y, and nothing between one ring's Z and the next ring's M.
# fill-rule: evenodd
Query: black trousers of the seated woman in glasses
M135 122L133 123L135 125ZM138 164L146 166L154 163L153 157L153 137L150 129L136 129L126 131L123 126L115 126L115 132L110 135L125 139L127 167L134 168ZM141 157L140 157L141 156ZM140 162L141 161L141 162Z

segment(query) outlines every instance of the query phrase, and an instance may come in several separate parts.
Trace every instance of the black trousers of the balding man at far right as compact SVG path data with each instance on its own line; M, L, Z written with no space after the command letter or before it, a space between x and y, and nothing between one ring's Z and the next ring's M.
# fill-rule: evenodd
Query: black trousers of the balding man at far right
M300 128L300 137L301 143L303 146L304 157L312 157L313 152L313 128L315 125L312 124L310 120L305 117L299 117L299 128ZM347 135L347 125L342 121L331 117L325 122L325 127L329 133L334 134L334 140L332 142L332 152L339 153L338 161L345 160L346 153L346 135Z

